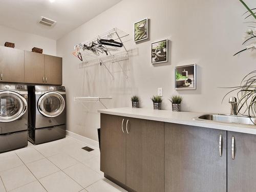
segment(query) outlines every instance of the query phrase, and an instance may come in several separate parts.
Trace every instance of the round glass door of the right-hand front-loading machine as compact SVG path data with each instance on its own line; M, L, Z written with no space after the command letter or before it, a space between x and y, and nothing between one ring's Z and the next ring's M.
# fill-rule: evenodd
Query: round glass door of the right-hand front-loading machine
M37 106L42 115L57 117L65 109L65 99L57 92L48 92L39 98Z

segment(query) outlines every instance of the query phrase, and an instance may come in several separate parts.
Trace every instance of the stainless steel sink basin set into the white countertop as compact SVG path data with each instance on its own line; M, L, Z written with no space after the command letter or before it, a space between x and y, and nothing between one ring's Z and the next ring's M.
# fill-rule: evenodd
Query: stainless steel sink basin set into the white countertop
M239 123L239 124L245 124L245 125L256 124L256 118L249 118L248 116L239 116L239 115L204 114L204 115L195 117L193 119L204 120L204 121L216 121L216 122L223 122L223 123Z

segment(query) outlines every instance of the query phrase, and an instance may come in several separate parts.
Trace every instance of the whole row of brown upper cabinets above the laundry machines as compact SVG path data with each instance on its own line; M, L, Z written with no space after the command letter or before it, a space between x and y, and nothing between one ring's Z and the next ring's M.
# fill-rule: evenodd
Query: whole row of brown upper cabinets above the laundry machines
M62 58L0 46L0 82L62 84Z

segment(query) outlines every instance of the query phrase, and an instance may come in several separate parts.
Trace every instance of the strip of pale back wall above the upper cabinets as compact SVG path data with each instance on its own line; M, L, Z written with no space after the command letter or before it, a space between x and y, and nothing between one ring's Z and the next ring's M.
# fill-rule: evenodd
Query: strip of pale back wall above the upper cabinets
M0 26L0 46L14 42L16 49L31 51L33 47L44 50L44 54L56 55L56 40Z

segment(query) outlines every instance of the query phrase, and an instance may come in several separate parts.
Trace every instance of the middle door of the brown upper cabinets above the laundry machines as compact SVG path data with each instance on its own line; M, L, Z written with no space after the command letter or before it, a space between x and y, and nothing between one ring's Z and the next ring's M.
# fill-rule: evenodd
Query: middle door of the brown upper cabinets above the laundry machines
M25 82L45 83L45 55L25 51Z

